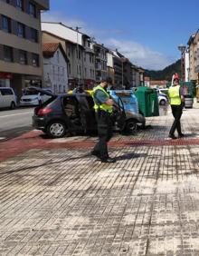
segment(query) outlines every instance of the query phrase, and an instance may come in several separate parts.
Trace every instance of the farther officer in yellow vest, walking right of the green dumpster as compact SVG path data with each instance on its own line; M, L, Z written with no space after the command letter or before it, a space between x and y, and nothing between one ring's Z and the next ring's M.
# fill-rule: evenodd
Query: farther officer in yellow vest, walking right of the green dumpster
M185 135L181 131L181 123L180 118L183 113L183 103L184 103L184 96L183 92L179 85L179 79L174 79L174 84L168 89L168 95L170 99L171 109L173 116L175 118L174 123L171 126L170 132L169 132L169 138L175 140L175 129L178 133L178 138L182 138Z

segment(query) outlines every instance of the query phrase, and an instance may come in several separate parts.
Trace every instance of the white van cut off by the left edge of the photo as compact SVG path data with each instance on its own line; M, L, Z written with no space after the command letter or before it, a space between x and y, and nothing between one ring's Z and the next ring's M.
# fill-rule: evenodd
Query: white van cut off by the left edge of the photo
M16 106L16 96L10 87L0 87L0 108L9 107L14 109Z

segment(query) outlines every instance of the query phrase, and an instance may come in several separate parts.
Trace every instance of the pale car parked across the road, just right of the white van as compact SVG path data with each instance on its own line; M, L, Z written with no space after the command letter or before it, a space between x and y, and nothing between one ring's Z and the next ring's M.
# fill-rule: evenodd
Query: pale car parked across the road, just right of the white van
M51 92L51 90L46 90L47 92ZM45 92L45 90L43 90ZM46 102L49 99L49 96L43 94L43 92L38 92L36 90L24 89L23 96L20 99L21 106L27 105L40 105Z

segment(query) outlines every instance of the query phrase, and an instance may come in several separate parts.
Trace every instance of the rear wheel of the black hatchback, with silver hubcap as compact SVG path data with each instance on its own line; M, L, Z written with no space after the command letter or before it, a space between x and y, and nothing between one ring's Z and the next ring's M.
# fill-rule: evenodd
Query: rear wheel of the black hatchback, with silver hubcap
M66 125L61 121L53 121L48 124L46 133L51 138L62 138L66 133Z

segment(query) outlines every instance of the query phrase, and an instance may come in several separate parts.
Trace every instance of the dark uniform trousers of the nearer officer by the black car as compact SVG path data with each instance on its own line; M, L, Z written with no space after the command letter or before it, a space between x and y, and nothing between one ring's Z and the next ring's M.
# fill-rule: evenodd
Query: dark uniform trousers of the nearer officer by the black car
M99 110L96 113L98 122L99 142L95 145L93 151L98 153L100 159L109 158L107 143L112 137L112 118L111 114L106 111Z

